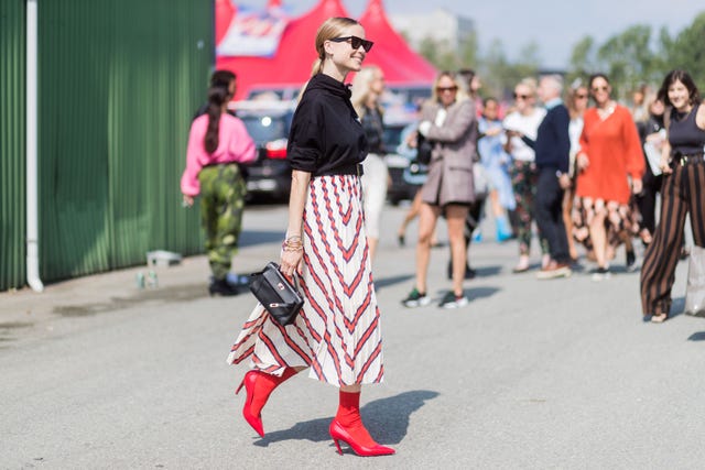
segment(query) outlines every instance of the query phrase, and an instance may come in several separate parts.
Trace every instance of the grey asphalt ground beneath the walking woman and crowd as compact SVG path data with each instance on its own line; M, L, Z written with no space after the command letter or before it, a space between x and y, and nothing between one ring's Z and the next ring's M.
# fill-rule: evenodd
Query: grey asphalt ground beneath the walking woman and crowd
M305 374L274 392L260 439L232 394L247 367L226 364L253 297L208 297L195 256L156 269L152 288L137 287L148 270L138 267L0 293L0 468L705 467L705 320L642 323L622 251L601 283L584 260L565 280L512 274L517 243L494 242L489 222L470 250L470 304L405 309L414 250L397 245L403 211L384 212L375 262L386 382L362 394L368 428L395 456L338 456L327 436L337 391ZM285 214L248 210L238 272L278 255ZM432 253L436 300L447 251Z

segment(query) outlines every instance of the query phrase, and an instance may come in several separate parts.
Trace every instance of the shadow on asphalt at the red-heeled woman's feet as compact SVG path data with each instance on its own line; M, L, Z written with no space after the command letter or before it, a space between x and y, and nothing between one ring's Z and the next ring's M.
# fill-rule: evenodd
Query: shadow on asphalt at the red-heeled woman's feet
M397 396L368 403L360 408L360 415L365 426L377 441L388 445L399 444L406 436L411 414L421 408L426 400L436 396L438 396L438 392L429 390L404 392ZM267 447L271 442L291 439L305 439L314 442L330 440L328 425L332 419L332 417L312 419L297 423L289 429L267 433L254 445Z

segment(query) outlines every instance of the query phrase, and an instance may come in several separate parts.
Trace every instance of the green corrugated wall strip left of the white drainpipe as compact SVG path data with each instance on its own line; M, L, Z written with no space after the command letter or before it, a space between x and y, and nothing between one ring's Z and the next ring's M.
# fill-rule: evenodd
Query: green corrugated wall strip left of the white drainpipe
M24 1L0 1L0 291L26 276Z

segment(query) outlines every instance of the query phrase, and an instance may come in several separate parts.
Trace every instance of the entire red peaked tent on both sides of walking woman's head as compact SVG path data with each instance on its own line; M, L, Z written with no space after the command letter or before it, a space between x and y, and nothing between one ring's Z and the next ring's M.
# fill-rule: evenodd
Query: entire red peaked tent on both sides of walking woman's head
M225 23L221 14L232 19L227 0L217 0L216 24ZM218 9L220 7L220 9ZM281 1L270 1L268 8L279 8ZM235 99L243 99L250 89L297 88L310 77L316 59L315 34L318 26L330 17L349 17L340 0L321 0L304 15L292 20L282 33L279 47L272 57L217 56L216 68L232 70L238 75L238 91ZM360 18L367 37L375 47L367 55L366 65L377 65L384 72L390 85L431 85L435 68L412 51L392 29L381 0L370 0ZM221 24L220 28L227 29ZM216 32L216 35L218 32Z

